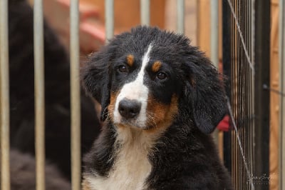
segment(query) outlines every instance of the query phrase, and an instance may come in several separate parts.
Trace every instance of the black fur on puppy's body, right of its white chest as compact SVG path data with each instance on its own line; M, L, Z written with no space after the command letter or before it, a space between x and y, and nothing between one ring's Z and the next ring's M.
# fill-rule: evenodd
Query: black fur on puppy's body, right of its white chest
M187 130L189 124L177 119L155 146L150 189L230 189L214 142L197 129Z

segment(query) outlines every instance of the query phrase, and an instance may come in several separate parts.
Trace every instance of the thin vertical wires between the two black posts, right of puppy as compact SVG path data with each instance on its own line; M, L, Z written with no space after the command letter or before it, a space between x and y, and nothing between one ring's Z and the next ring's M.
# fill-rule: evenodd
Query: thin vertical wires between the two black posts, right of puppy
M228 1L231 9L231 37L232 37L232 111L234 120L237 122L237 131L232 130L232 176L235 189L254 189L252 183L252 169L247 164L252 165L253 157L251 151L254 108L250 105L253 101L251 94L252 75L254 69L252 60L249 58L249 49L253 44L249 39L252 36L250 27L251 4L244 4L243 1ZM246 17L247 16L247 17ZM239 23L239 21L242 21ZM240 139L240 141L239 141ZM244 149L242 149L244 146ZM244 150L244 152L242 152ZM245 158L245 159L243 159ZM246 161L247 160L247 161Z

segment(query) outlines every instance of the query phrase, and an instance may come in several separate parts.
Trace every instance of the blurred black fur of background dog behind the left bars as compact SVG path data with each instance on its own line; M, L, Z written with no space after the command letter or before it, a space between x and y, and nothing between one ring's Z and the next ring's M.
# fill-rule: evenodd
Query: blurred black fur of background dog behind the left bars
M44 24L46 157L68 178L70 151L70 70L66 50ZM9 1L9 79L11 146L34 154L33 9L24 0ZM99 131L93 101L82 94L82 153ZM13 177L13 176L12 176Z

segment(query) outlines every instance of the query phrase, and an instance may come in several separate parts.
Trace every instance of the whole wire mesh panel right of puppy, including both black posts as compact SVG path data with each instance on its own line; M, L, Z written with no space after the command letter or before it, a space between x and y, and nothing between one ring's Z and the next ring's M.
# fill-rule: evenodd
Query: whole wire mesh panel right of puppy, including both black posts
M269 84L269 3L223 1L223 59L232 119L226 164L234 189L268 189L270 182L269 91L264 88Z

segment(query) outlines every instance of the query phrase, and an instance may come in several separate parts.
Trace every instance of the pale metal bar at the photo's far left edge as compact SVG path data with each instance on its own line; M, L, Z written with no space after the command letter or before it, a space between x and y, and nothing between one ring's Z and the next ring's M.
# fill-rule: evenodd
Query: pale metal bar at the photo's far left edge
M9 170L9 44L8 1L0 1L0 122L1 122L1 187L10 189Z

